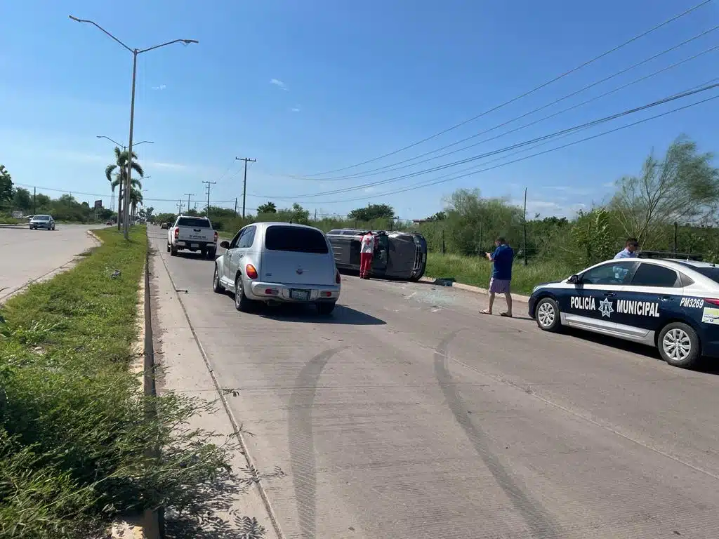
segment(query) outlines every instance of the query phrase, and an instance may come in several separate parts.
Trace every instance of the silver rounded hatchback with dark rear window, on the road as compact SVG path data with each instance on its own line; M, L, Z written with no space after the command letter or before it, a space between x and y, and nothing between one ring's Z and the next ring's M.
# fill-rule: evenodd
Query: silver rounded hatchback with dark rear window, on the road
M237 310L260 302L313 303L329 315L339 299L341 279L324 232L312 226L255 223L245 226L215 260L212 287L234 292Z

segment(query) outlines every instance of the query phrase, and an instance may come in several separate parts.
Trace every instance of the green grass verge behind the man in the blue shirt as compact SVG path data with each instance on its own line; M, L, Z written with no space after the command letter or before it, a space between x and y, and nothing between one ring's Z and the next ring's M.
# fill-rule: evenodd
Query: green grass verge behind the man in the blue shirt
M569 277L576 268L561 262L532 262L524 265L522 259L515 259L512 268L512 291L529 294L532 288L542 282ZM489 286L492 263L480 257L462 257L457 254L427 255L427 277L454 278L456 282L482 288Z

